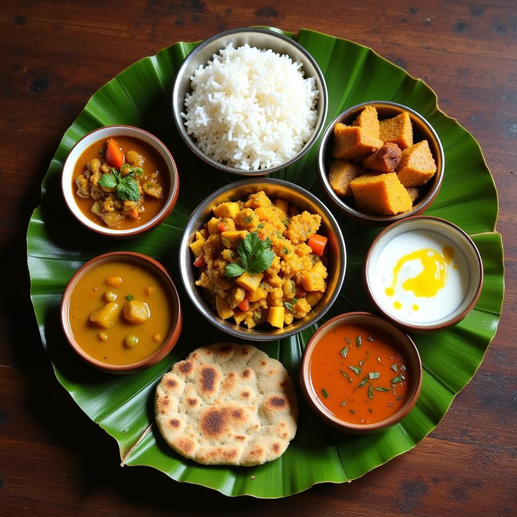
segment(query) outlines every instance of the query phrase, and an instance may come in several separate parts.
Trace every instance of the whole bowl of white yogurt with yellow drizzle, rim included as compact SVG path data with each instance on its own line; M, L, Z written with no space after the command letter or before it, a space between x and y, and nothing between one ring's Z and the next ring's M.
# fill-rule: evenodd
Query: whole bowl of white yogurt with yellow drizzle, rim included
M373 241L363 269L374 305L413 331L458 324L483 284L481 256L458 226L436 217L408 217Z

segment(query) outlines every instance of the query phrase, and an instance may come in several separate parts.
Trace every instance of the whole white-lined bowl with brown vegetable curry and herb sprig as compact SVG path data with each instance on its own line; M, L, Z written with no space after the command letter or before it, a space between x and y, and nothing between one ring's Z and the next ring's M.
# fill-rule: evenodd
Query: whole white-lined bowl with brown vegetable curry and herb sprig
M178 174L169 150L155 136L130 126L87 134L70 151L62 189L72 214L105 235L153 229L171 212Z

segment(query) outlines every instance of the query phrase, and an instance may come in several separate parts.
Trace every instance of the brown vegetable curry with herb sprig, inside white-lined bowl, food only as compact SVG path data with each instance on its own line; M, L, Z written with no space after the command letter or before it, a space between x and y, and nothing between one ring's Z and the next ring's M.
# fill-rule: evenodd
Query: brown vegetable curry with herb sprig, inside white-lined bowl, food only
M88 219L117 230L140 226L163 208L169 193L163 158L129 136L89 146L75 164L72 188Z

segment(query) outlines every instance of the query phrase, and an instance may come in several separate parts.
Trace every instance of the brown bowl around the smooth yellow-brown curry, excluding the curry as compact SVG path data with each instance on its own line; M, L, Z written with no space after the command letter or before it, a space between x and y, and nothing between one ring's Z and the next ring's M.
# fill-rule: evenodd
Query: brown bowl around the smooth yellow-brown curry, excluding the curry
M169 290L170 299L172 303L171 329L169 331L168 336L164 340L163 345L149 357L146 357L145 359L142 359L141 361L132 364L108 364L102 361L98 361L93 357L90 357L81 348L79 343L75 341L68 317L70 296L75 285L77 285L79 280L81 280L81 278L83 278L83 276L88 271L94 269L95 267L100 266L101 264L105 264L107 262L114 261L128 261L137 264L141 267L152 270L154 273L156 273L158 277L162 279L163 285L165 286L165 288ZM74 275L65 287L65 292L63 293L63 298L61 300L60 307L60 317L63 332L65 333L65 337L68 343L70 343L70 346L72 347L73 351L96 369L107 373L131 373L139 370L145 370L146 368L153 366L153 364L156 364L158 361L163 359L172 350L179 338L181 326L183 323L178 293L176 291L176 287L174 286L171 277L169 276L169 272L158 261L154 260L154 258L151 258L147 255L142 255L141 253L134 253L132 251L112 251L110 253L99 255L95 258L92 258L92 260L88 261L77 271L75 271Z

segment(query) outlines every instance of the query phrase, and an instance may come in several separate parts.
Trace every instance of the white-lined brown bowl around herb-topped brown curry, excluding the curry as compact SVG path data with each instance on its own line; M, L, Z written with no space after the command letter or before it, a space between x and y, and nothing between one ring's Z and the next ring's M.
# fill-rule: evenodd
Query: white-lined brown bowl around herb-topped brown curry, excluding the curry
M147 221L144 224L135 226L134 228L128 228L127 230L117 230L108 226L97 224L96 222L88 219L77 204L75 199L75 193L71 187L73 170L75 163L84 151L92 144L95 144L99 140L107 140L109 138L116 138L117 136L131 136L145 142L146 144L153 147L157 153L163 158L167 172L170 175L170 191L163 208L158 214ZM164 171L165 172L165 171ZM83 226L86 226L89 230L101 235L108 235L110 237L133 237L144 232L149 232L161 224L171 213L176 200L178 199L179 192L179 175L176 168L176 163L172 157L169 149L153 134L145 131L144 129L135 128L133 126L105 126L83 136L71 149L70 153L65 160L63 165L63 173L61 175L61 189L63 191L63 197L68 209L72 215L77 219Z

